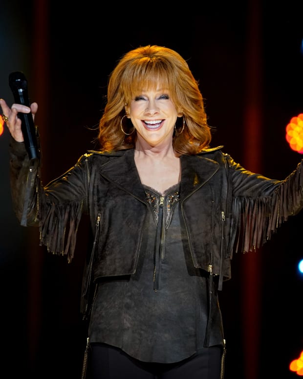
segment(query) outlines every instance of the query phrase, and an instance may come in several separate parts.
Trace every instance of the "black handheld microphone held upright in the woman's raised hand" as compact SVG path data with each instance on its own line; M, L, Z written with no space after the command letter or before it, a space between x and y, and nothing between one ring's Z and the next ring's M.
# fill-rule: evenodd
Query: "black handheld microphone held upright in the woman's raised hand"
M13 92L15 103L30 106L27 80L23 72L15 71L9 74L9 87ZM37 159L39 149L33 116L31 113L19 112L18 117L21 119L21 130L29 159Z

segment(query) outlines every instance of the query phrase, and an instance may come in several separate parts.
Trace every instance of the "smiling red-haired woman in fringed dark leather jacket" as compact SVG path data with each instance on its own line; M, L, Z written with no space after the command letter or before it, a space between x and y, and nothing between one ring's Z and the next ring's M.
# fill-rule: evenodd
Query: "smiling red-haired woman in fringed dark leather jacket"
M217 290L230 279L234 251L258 248L301 210L302 162L278 181L209 148L197 82L161 46L122 57L108 82L100 151L45 187L17 117L34 116L37 104L0 106L21 224L39 226L41 245L72 260L81 214L90 216L82 309L89 378L223 378Z

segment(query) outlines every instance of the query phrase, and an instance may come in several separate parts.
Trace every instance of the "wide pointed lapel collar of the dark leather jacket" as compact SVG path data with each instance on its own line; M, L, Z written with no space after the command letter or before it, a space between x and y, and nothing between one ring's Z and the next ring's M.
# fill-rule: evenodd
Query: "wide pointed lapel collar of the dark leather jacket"
M181 200L206 183L218 170L219 164L203 155L181 156ZM132 196L145 201L145 192L135 162L134 149L102 166L101 175Z

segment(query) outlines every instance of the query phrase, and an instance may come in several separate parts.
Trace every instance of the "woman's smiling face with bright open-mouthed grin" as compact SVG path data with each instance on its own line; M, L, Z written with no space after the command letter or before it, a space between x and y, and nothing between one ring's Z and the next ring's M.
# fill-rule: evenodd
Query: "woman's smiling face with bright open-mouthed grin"
M125 107L137 131L137 143L151 147L172 145L178 114L167 89L142 90Z

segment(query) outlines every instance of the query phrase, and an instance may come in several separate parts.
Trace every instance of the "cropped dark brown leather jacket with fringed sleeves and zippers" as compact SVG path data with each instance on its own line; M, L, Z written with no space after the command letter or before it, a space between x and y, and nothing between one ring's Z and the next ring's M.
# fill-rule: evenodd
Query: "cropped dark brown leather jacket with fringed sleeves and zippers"
M245 170L221 148L180 157L179 201L194 266L218 276L219 290L231 277L233 253L261 246L303 206L302 162L285 180L273 180ZM98 225L93 277L135 272L148 204L133 149L89 151L45 187L23 143L12 141L10 151L15 212L22 225L40 227L41 245L71 260L88 212L94 232Z

